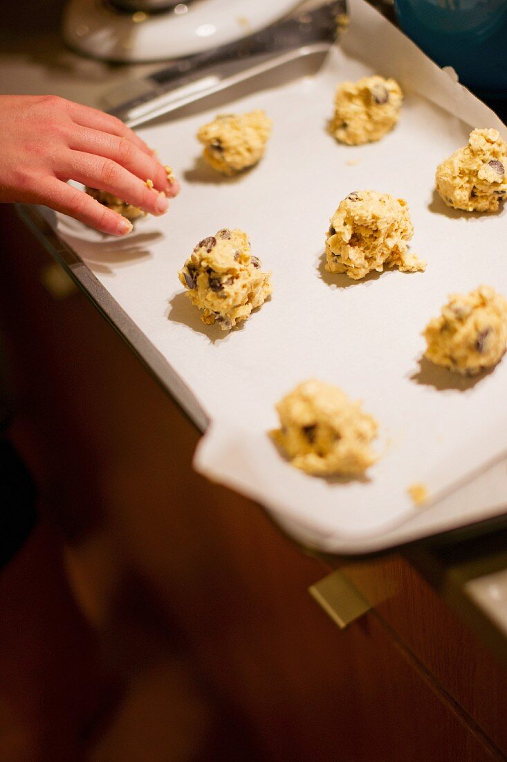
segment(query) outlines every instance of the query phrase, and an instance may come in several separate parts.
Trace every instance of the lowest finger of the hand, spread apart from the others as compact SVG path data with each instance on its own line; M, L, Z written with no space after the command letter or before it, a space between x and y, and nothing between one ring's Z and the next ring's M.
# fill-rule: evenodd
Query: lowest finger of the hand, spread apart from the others
M132 230L132 223L128 219L104 207L84 191L78 191L56 178L47 178L40 187L39 195L39 203L68 214L100 232L126 235Z

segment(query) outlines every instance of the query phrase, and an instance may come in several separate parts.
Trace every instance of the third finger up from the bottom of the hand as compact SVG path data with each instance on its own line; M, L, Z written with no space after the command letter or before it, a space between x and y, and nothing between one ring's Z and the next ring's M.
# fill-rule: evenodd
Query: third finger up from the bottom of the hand
M169 197L177 194L178 187L167 180L164 168L155 158L146 155L128 138L76 126L69 138L69 148L110 158L143 182L149 178L157 191L162 191Z

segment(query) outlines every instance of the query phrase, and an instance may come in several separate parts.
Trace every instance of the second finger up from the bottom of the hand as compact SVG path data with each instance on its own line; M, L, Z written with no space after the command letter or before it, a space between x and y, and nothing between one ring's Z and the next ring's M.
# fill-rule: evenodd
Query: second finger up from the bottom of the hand
M110 158L81 151L68 151L61 158L60 180L75 180L107 191L144 212L160 215L167 211L167 197Z

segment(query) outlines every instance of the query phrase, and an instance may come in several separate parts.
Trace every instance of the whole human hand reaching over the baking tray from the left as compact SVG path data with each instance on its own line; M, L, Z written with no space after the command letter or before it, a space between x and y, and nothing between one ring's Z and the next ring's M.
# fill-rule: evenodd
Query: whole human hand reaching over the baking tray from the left
M132 230L128 219L67 181L155 215L180 191L123 122L55 95L0 95L0 136L0 202L44 204L101 232L125 235Z

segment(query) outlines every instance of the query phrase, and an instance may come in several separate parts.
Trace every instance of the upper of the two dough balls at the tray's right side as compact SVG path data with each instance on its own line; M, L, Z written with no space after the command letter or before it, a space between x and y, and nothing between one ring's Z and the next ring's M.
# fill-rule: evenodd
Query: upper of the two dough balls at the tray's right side
M497 212L507 198L507 143L498 130L473 130L468 145L438 165L438 193L448 207Z

